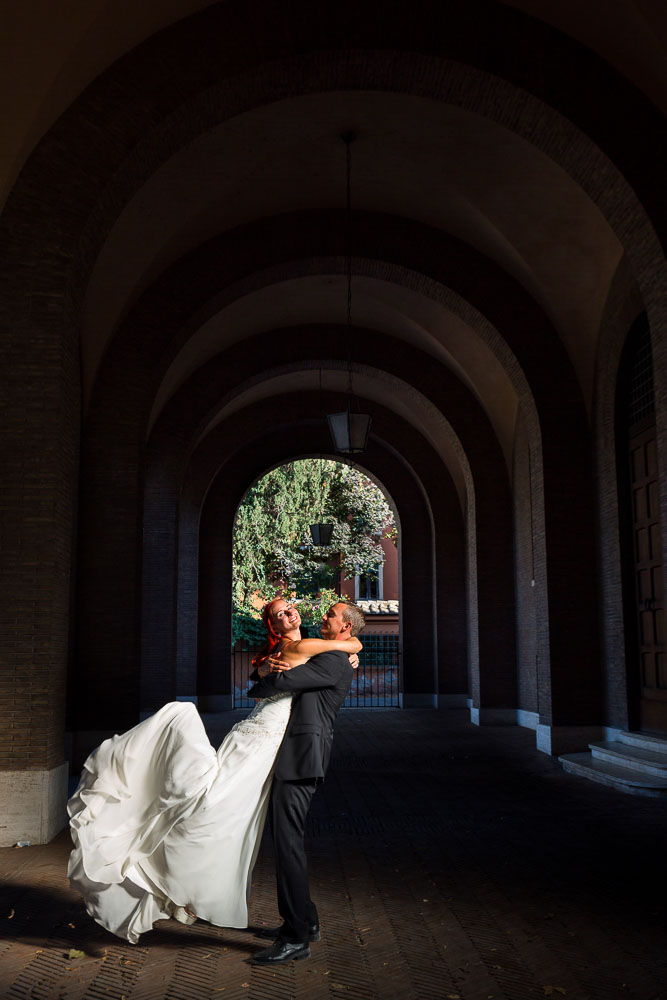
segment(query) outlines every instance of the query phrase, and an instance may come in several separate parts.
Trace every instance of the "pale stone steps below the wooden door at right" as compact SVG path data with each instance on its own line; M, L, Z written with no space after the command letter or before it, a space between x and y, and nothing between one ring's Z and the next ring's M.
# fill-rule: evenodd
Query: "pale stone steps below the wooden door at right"
M667 798L667 739L620 733L613 742L589 747L559 757L563 769L629 795Z

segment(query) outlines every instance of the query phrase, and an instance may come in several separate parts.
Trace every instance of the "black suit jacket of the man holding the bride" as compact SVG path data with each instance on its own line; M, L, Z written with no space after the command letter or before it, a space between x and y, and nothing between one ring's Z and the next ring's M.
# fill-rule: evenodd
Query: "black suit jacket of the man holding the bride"
M297 695L276 757L276 778L324 778L331 757L334 721L353 675L347 653L332 650L318 653L291 670L269 674L248 691L249 698L267 698L283 691Z

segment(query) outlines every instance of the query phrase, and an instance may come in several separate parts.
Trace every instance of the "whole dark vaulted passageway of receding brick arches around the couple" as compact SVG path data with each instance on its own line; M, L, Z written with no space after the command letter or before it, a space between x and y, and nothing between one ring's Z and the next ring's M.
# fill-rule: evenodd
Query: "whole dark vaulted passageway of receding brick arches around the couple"
M272 464L329 450L349 363L374 417L362 464L403 526L406 699L530 727L552 753L626 728L614 413L640 314L667 512L649 42L621 58L532 0L344 2L335 20L144 6L104 45L91 28L89 78L63 56L20 169L8 146L0 795L35 772L53 832L66 719L80 759L191 696L197 662L202 695L229 693L236 504Z

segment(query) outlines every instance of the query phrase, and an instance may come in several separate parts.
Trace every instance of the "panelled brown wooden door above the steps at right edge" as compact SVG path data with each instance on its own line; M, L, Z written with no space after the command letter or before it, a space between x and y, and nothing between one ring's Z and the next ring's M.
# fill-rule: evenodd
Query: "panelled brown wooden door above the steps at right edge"
M640 727L667 734L667 653L655 426L630 438Z

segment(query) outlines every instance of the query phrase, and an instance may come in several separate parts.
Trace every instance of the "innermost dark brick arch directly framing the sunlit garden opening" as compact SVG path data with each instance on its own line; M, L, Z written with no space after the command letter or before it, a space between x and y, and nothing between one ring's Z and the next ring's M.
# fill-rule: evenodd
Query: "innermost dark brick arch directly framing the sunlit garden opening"
M254 418L254 434L240 449L220 456L213 480L203 495L199 492L195 505L200 513L200 589L190 614L196 614L198 607L198 693L204 698L231 691L230 672L221 672L220 663L228 663L231 648L231 541L238 504L268 468L300 454L319 453L328 444L322 419L304 419L303 401L291 402L290 406L288 398L276 400L281 415L272 433L262 426L264 406L239 415L238 422L246 427ZM394 431L401 423L381 409L376 415L390 421ZM237 421L228 423L234 426ZM276 435L278 428L285 431L285 437ZM228 430L224 427L213 435L210 449L221 443ZM407 638L403 690L407 704L426 707L437 704L440 690L467 691L464 533L451 479L437 455L418 437L413 433L410 457L414 466L374 436L360 467L381 479L401 518L402 629ZM191 470L193 475L201 471L198 464ZM428 491L427 496L425 485L434 486L436 480L440 491ZM192 502L193 494L189 497Z

